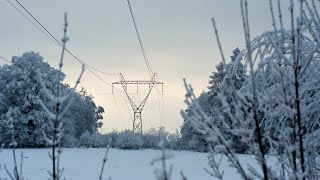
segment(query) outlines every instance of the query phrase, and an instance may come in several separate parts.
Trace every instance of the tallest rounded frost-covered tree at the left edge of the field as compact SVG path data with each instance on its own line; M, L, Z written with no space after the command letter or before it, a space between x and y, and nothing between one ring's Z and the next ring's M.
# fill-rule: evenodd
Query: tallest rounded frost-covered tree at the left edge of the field
M21 57L13 57L12 64L0 68L0 134L5 143L10 142L8 118L5 114L11 110L11 116L17 132L19 147L43 147L43 132L50 130L48 115L41 108L38 98L43 90L37 79L37 72L43 74L43 80L49 91L57 86L58 74L64 74L43 61L39 53L27 52ZM43 97L48 107L53 107L48 98Z

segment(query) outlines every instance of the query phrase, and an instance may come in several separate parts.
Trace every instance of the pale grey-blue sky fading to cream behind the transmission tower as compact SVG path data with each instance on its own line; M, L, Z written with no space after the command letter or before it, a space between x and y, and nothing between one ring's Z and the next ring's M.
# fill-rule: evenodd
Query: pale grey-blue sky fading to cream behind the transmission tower
M19 7L15 0L9 1ZM67 12L70 38L67 48L89 65L107 73L122 73L127 80L149 80L126 0L20 2L59 39L63 14ZM268 2L249 0L252 37L272 27ZM221 60L211 17L216 19L227 60L233 49L244 47L240 1L131 0L131 4L152 70L165 84L164 101L153 91L144 108L144 131L165 126L174 132L182 125L180 110L186 108L182 79L185 77L193 84L199 94L207 89L209 75ZM51 66L57 67L61 48L6 0L0 0L0 56L11 59L30 50L39 52ZM0 65L5 63L0 59ZM81 65L66 54L63 71L67 83L76 80L80 69ZM110 84L119 80L118 76L99 76ZM81 86L95 97L97 105L105 108L104 131L132 128L133 112L123 93L115 92L113 96L111 88L89 71L85 72ZM129 91L138 102L136 87ZM141 86L140 100L146 93Z

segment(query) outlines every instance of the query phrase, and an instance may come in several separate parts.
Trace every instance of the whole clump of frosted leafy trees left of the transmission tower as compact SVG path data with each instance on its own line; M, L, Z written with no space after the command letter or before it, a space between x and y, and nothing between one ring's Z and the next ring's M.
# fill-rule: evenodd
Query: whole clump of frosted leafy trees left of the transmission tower
M40 85L37 74L46 90ZM60 80L58 80L60 74ZM48 109L54 109L54 103L44 91L57 93L57 83L61 90L73 91L74 103L63 117L64 146L75 146L80 135L89 131L96 132L101 127L104 109L96 106L93 97L85 90L75 92L62 83L65 75L46 63L39 53L26 52L21 57L13 57L12 64L0 67L0 142L10 143L11 132L6 113L11 110L15 126L16 141L19 147L44 147L43 132L51 131L48 114L41 107L39 99Z

